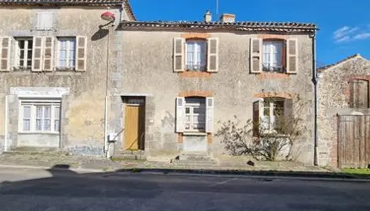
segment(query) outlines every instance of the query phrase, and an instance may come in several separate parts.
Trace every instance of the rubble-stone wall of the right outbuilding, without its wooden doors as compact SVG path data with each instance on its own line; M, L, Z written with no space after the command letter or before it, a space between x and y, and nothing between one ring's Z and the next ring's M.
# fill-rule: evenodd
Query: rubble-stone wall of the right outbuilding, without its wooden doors
M359 55L319 69L319 165L338 166L338 115L369 114L369 108L350 106L352 80L369 82L369 72L370 61Z

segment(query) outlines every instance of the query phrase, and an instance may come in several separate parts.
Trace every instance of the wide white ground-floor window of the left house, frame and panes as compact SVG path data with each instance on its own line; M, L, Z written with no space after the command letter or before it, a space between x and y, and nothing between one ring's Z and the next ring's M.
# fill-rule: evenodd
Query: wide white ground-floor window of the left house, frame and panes
M20 103L20 132L58 133L61 127L60 101L28 101Z

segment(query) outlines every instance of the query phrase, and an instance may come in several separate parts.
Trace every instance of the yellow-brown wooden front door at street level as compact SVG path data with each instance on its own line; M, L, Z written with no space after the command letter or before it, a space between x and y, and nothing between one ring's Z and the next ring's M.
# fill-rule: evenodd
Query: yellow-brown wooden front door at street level
M142 149L144 137L144 107L136 104L125 106L125 137L124 150L137 151Z

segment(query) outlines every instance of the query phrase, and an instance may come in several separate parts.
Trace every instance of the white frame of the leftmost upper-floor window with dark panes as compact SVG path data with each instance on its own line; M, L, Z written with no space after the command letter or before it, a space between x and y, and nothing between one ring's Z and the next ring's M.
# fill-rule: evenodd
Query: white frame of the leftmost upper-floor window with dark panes
M33 37L15 37L14 38L16 41L15 41L15 51L14 51L14 67L15 68L19 68L19 69L22 69L22 70L31 70L32 68L32 60L33 60L33 56L32 56L32 52L34 51L33 49ZM20 66L20 47L19 47L19 42L20 41L25 41L25 44L24 44L24 54L23 54L23 66ZM28 42L29 41L32 41L32 45L31 45L31 51L28 52ZM27 60L28 60L28 53L31 53L31 58L30 58L30 66L27 67Z

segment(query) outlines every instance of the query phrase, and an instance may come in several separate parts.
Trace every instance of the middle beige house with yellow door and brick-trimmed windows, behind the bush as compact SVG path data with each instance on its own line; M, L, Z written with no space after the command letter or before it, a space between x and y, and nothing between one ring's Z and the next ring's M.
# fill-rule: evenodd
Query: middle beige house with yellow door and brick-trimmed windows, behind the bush
M110 87L109 118L110 130L125 130L116 152L220 155L219 121L236 115L274 127L276 110L292 113L299 95L307 131L295 151L313 163L316 25L237 22L233 14L214 21L207 12L202 21L123 20L117 30L124 65Z

